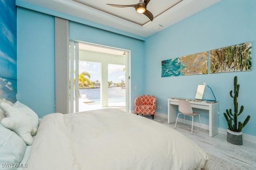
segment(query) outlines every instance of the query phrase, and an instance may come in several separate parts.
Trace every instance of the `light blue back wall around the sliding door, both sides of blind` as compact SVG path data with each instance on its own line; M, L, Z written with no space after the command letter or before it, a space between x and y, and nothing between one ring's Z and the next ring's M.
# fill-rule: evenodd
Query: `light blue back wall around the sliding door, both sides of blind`
M42 117L55 112L54 16L21 7L17 16L18 100ZM72 21L70 39L131 50L134 110L133 101L144 94L144 41Z

